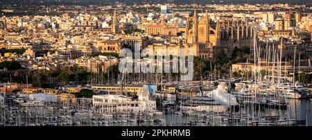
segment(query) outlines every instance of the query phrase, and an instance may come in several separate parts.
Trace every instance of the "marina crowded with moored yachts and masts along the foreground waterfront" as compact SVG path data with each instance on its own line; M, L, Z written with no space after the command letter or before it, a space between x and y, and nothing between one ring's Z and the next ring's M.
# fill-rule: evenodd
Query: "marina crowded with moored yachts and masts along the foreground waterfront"
M159 100L157 107L148 110L119 110L99 112L92 100L78 99L76 104L58 101L29 101L20 96L6 96L1 104L1 126L257 126L257 125L312 125L311 100L309 98L285 98L274 96L257 102L248 92L238 92L245 87L227 90L225 82L187 98L178 98L168 104ZM221 92L222 91L222 92ZM205 94L206 92L206 94ZM208 93L207 93L208 92ZM221 94L220 94L221 93ZM149 100L148 94L145 99ZM112 96L112 98L116 98ZM221 100L222 99L222 100ZM233 100L231 100L233 99ZM152 100L152 99L151 99ZM179 101L180 100L180 101ZM232 103L231 103L232 102ZM129 102L125 102L129 104ZM161 105L161 106L159 106ZM122 105L121 105L122 106ZM140 107L142 108L142 107ZM107 110L108 111L108 110Z

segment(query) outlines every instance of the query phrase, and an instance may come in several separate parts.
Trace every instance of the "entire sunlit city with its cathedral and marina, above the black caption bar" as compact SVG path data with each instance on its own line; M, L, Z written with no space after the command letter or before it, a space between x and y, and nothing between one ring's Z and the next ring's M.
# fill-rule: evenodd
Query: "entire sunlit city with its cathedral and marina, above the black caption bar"
M312 125L311 2L173 1L1 1L0 126Z

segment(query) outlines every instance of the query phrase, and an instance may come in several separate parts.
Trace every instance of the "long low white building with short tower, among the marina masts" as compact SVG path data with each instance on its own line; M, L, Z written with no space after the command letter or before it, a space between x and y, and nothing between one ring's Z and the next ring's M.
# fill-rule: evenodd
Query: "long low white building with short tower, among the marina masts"
M138 99L123 95L94 95L93 105L100 113L137 113L156 110L156 101L149 100L149 94L139 93Z

